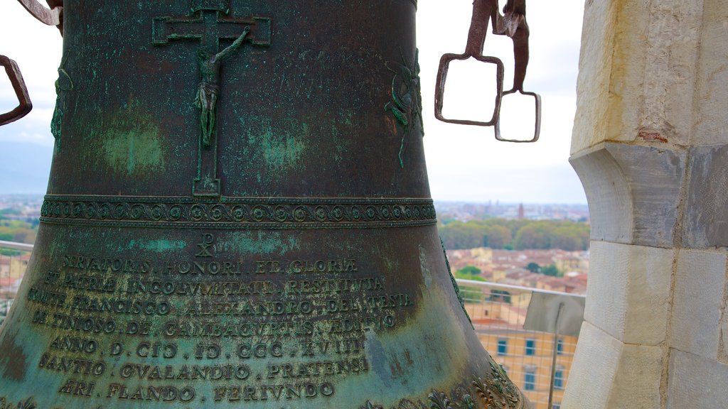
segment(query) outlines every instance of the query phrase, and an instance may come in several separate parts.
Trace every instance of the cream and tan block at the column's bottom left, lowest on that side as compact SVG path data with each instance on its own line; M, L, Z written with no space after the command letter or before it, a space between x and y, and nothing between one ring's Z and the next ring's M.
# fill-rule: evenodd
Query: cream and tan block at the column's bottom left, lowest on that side
M584 322L564 409L660 408L662 349L622 344Z

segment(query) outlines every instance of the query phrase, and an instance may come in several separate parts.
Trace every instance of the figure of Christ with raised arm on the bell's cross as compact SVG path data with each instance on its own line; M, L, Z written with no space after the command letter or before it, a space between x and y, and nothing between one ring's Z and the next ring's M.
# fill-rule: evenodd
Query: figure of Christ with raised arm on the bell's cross
M232 55L240 47L242 41L250 33L250 27L245 27L240 36L217 54L208 52L204 47L199 50L199 74L202 77L197 89L194 105L199 108L199 124L202 127L202 146L210 148L215 132L215 106L220 94L220 65L222 61Z

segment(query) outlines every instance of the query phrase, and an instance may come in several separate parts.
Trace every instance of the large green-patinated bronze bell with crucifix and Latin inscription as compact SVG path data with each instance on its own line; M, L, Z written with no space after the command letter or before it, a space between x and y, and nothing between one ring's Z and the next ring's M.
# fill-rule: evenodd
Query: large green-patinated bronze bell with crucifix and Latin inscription
M416 0L66 0L0 408L522 408L448 272Z

